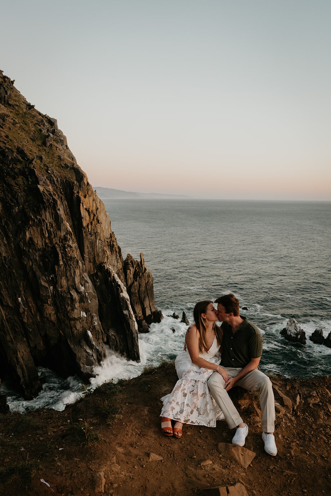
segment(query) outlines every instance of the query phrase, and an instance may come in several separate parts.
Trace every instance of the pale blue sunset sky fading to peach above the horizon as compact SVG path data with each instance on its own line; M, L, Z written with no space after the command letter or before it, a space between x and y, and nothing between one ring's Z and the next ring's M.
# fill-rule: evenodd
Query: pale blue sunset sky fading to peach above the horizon
M331 200L330 0L10 0L0 25L93 187Z

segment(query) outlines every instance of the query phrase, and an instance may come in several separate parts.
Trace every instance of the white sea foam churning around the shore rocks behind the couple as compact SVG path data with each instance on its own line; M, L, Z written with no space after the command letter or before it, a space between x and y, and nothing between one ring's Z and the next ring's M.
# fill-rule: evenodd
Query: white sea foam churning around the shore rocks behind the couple
M253 306L251 306L252 308ZM261 310L261 306L255 306L257 310ZM250 309L251 310L251 309ZM126 360L119 354L107 349L107 357L98 367L94 368L95 377L90 379L89 387L94 389L98 385L109 381L124 378L131 378L140 375L146 366L156 366L162 360L174 360L179 352L183 350L185 342L185 333L187 325L180 320L174 319L171 315L174 310L164 310L164 318L158 324L151 324L150 331L146 334L139 334L139 353L140 363ZM175 310L179 313L179 310ZM189 311L187 310L188 317L190 318ZM264 314L268 317L277 318L278 322L271 326L266 326L266 332L260 328L261 333L264 335L264 351L268 352L269 356L276 357L282 354L292 354L292 359L287 359L287 368L296 366L297 359L303 361L308 360L312 356L321 356L326 358L331 355L331 348L326 346L316 345L307 339L307 345L304 348L289 348L288 342L279 339L280 330L286 326L287 319L281 315ZM325 337L331 330L330 320L311 319L305 324L300 324L306 331L307 337L311 335L316 328L325 329ZM175 329L175 332L171 329ZM281 363L267 363L264 367L265 372L282 373L284 372ZM277 360L278 362L278 360ZM316 373L319 367L316 366ZM54 408L55 410L64 410L67 404L72 403L77 395L81 394L81 379L78 377L68 377L65 381L57 377L53 372L48 369L39 368L39 374L46 378L46 383L43 385L43 390L37 398L31 401L24 400L17 393L14 393L4 383L1 385L2 392L7 394L8 404L11 410L18 410L24 412L29 409L39 407Z

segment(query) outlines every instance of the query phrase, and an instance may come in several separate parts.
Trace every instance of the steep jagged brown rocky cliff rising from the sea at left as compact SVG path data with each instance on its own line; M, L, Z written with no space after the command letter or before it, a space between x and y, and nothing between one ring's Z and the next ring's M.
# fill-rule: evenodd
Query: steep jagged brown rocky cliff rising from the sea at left
M0 71L0 375L26 398L38 366L86 380L105 344L139 360L138 326L160 318L143 257L124 262L57 121Z

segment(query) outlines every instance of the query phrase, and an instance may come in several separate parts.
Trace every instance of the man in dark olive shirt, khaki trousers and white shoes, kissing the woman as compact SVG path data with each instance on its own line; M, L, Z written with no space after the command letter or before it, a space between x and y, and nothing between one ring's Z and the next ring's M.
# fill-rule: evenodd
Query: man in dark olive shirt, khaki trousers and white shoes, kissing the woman
M223 329L221 367L229 374L225 382L223 377L214 372L209 380L210 392L222 410L230 429L237 427L232 439L233 444L244 446L248 426L244 424L234 407L228 391L233 386L241 386L251 391L259 391L262 409L262 439L265 451L275 456L277 448L274 440L275 408L270 379L258 369L263 339L256 327L239 314L239 300L232 294L221 296L217 303L218 320Z

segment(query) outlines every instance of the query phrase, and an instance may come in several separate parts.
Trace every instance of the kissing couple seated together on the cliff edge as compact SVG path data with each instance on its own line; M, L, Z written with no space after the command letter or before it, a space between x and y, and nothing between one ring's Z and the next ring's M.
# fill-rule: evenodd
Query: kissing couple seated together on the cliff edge
M209 300L194 308L195 323L188 328L184 351L175 360L179 380L173 391L161 398L162 433L180 438L183 424L216 427L216 420L225 420L229 429L236 428L232 443L244 446L248 426L228 395L233 386L241 386L259 391L262 439L265 451L275 456L274 397L269 377L259 370L260 330L240 315L239 300L233 294L214 303L217 309ZM217 320L222 322L220 327Z

